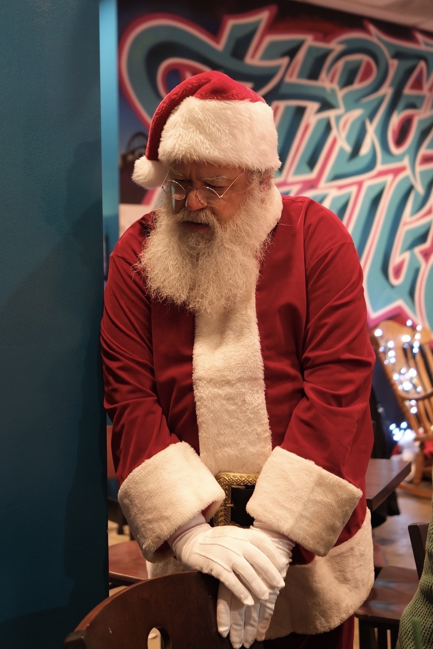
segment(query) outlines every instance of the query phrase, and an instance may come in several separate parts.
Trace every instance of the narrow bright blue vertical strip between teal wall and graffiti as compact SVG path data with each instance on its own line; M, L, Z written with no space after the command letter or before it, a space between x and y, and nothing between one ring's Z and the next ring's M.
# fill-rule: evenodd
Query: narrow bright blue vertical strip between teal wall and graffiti
M119 238L118 5L99 0L104 234L110 254Z

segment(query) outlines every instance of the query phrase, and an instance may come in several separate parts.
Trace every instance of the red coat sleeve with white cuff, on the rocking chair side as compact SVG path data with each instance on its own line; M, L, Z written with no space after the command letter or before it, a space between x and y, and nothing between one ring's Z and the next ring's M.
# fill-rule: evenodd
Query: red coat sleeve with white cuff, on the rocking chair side
M375 356L353 241L328 210L311 203L308 209L321 210L323 221L308 227L306 215L304 397L283 443L267 459L247 510L325 556L362 496L364 475L353 479L351 454L367 462L373 443L366 410ZM327 244L323 228L334 229L335 243Z

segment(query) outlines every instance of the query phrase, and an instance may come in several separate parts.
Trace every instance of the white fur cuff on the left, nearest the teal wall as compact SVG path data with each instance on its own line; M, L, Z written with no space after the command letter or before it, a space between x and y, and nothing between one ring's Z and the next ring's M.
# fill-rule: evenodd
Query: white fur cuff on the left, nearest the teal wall
M206 507L214 515L225 493L186 442L171 444L130 472L119 489L119 503L130 530L149 561L169 536ZM171 556L173 553L171 552Z

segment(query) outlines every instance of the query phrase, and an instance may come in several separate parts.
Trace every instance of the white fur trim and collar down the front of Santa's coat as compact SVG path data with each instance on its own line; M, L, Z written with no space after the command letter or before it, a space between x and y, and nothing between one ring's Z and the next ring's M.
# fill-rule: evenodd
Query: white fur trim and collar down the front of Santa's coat
M282 210L279 191L272 191L265 215L268 232ZM228 313L195 316L192 379L206 467L214 475L260 473L272 445L255 290Z

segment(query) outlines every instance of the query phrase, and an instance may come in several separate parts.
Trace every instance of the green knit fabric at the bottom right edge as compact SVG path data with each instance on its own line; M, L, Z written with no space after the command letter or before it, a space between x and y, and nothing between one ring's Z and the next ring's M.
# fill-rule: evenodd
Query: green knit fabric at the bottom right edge
M423 574L414 597L402 613L395 649L416 649L414 617L419 619L423 649L433 649L433 518L428 525Z

